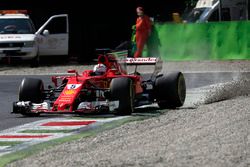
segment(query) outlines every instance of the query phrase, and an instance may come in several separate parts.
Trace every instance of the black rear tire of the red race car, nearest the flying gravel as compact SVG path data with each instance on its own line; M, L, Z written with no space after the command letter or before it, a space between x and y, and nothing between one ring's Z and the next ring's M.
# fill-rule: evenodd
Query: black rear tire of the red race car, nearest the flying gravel
M161 109L181 107L186 98L186 83L181 72L171 72L155 80L154 93Z

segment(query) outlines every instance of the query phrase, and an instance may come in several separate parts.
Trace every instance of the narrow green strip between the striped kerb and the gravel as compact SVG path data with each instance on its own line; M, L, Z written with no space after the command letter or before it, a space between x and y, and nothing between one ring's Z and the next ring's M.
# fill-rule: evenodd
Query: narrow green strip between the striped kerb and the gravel
M121 120L117 120L117 121L113 121L113 122L104 123L102 126L97 127L95 129L89 129L87 131L83 131L83 132L80 132L80 133L75 134L75 135L71 135L71 136L51 140L48 142L40 143L40 144L31 146L31 147L24 149L24 150L21 150L21 151L6 154L6 155L3 155L2 157L0 157L0 167L4 167L8 163L11 163L11 162L17 161L19 159L23 159L23 158L26 158L28 156L34 155L42 150L52 148L55 145L59 145L59 144L74 141L74 140L79 140L79 139L85 138L85 137L95 136L100 132L119 127L119 126L124 125L128 122L141 121L141 120L145 120L147 118L149 118L149 117L148 116L133 116L133 117L128 117L126 119L121 119Z

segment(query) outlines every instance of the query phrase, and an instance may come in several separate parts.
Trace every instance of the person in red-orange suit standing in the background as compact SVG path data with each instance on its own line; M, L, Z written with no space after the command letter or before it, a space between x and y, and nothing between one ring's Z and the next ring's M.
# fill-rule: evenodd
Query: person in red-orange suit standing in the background
M136 12L138 18L136 20L136 47L137 50L134 54L134 57L141 57L143 52L143 47L147 42L147 39L151 33L152 23L150 18L145 15L144 9L142 7L137 7Z

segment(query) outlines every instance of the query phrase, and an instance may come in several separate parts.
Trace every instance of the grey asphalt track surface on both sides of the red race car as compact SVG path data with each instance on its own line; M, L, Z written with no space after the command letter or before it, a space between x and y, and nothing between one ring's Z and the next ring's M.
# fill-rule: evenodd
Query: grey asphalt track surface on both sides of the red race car
M198 88L215 83L223 83L239 77L250 78L250 73L185 73L187 89ZM40 78L45 85L51 84L50 76L25 76L25 75L2 75L0 76L0 130L22 125L25 123L62 117L62 115L41 115L40 117L23 117L22 115L11 114L12 102L18 100L18 87L24 77Z

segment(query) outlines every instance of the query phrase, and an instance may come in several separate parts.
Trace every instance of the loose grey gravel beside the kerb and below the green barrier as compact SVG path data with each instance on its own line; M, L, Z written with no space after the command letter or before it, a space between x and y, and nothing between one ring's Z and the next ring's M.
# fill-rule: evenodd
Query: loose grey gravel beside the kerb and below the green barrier
M248 61L201 64L164 67L250 69ZM203 88L204 98L195 109L166 110L159 117L64 143L8 166L250 166L249 85L245 78Z

